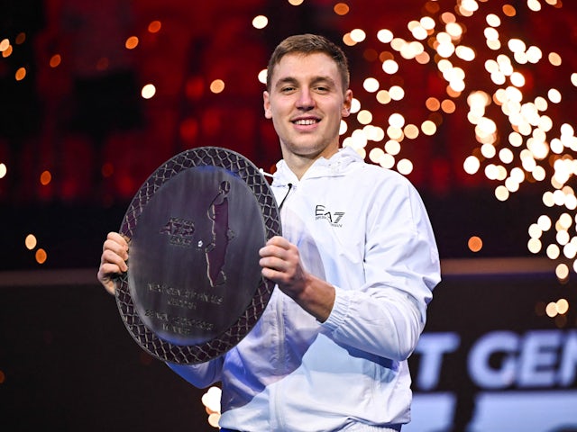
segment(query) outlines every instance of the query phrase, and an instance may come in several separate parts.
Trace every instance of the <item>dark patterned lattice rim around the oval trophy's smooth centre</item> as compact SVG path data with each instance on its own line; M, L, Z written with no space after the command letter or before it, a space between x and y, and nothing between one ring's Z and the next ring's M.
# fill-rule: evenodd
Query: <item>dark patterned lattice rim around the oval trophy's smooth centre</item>
M139 217L146 204L154 196L154 193L175 175L197 166L218 166L234 175L238 175L252 191L258 202L266 239L281 235L279 208L274 194L270 190L270 185L264 175L262 175L261 170L243 155L233 150L219 147L188 149L171 157L167 162L159 166L134 195L133 201L124 214L124 220L119 232L126 238L133 238L133 232L138 224ZM270 300L273 288L274 284L261 276L251 303L241 316L234 321L234 324L225 329L216 338L197 345L170 343L159 338L142 322L130 293L128 273L118 277L115 296L124 326L140 347L151 356L160 360L177 365L194 365L222 356L236 346L261 318L262 312Z

